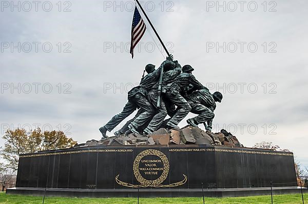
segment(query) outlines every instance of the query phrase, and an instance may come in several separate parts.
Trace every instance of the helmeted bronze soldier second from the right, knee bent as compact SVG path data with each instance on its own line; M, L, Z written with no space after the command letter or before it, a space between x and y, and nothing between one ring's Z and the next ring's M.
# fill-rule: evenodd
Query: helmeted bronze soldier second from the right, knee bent
M167 122L169 127L177 127L179 122L183 120L191 107L182 95L185 95L185 89L192 85L193 90L202 89L204 86L191 74L194 69L190 65L183 66L183 73L176 77L176 79L165 86L165 96L173 104L177 106L176 114Z

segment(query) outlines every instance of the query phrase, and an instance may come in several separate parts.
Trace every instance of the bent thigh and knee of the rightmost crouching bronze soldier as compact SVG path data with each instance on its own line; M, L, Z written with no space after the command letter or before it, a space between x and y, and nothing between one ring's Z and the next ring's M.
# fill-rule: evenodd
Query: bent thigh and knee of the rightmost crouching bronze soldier
M206 121L212 120L215 117L213 111L199 103L197 103L196 105L192 105L192 109L190 112L192 112L193 114L198 114L198 116L188 119L193 120L195 124L202 124Z

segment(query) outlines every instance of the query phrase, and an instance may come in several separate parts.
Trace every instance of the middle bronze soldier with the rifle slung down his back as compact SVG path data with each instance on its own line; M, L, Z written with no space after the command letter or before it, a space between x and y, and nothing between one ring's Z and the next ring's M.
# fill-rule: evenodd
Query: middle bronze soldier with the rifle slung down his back
M164 65L164 74L163 74L163 80L162 80L162 89L172 82L180 73L182 70L181 65L175 61L176 63L172 61L166 62ZM158 101L158 83L155 84L150 92L148 93L149 99L153 105L157 105ZM158 113L152 118L151 122L149 125L144 129L145 134L150 134L153 131L157 130L164 119L166 118L168 112L167 109L169 110L170 108L167 108L166 105L169 105L170 103L165 103L165 98L162 96L161 98L161 104L160 107L158 108ZM171 105L171 104L170 104Z

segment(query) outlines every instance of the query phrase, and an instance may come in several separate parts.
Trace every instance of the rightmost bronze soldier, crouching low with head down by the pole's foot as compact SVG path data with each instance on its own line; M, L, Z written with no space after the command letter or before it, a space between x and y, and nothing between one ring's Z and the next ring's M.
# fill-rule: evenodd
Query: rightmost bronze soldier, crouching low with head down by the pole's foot
M191 107L190 112L193 114L198 114L198 116L188 119L187 123L195 127L197 127L198 124L203 123L206 130L211 131L213 119L215 117L215 102L221 103L222 94L220 92L215 92L212 95L207 88L204 88L201 90L196 90L192 94L187 95L185 98ZM207 122L207 125L205 122Z

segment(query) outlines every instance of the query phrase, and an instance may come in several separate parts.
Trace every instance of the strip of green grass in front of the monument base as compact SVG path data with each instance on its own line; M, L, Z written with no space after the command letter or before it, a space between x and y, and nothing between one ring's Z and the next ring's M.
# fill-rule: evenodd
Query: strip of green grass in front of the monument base
M308 203L308 193L304 194L304 199ZM20 195L6 195L0 193L0 203L30 203L41 204L43 197L36 196L20 196ZM62 198L62 197L46 197L45 204L136 204L137 198ZM140 204L202 204L202 197L195 198L140 198ZM232 204L232 203L252 203L263 204L271 203L271 196L254 196L254 197L236 197L236 198L205 198L205 203L209 204ZM300 194L290 195L275 195L274 203L283 204L300 204L302 198Z

